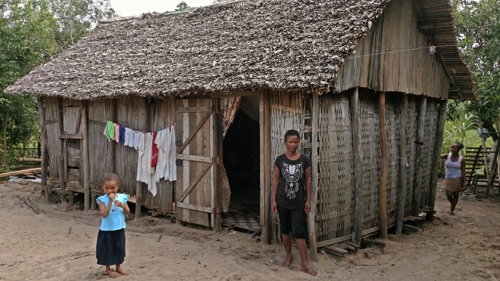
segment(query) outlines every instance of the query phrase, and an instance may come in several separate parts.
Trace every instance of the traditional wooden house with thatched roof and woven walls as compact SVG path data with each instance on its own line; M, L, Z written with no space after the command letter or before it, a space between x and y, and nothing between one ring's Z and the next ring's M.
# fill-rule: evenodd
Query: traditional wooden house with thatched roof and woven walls
M83 192L85 209L115 172L132 200L214 229L231 201L232 212L254 201L264 241L280 239L273 159L284 132L299 130L315 254L400 232L404 216L433 206L446 100L475 98L451 10L448 0L236 0L107 20L5 92L39 97L50 183ZM177 180L152 196L136 181L137 152L103 136L106 120L175 124Z

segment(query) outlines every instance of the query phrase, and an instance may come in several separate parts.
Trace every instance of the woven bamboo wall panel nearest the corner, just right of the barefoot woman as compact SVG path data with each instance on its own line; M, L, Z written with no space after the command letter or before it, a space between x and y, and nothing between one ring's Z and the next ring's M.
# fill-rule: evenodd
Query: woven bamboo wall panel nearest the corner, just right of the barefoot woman
M345 94L319 97L318 125L316 239L323 241L352 233L354 168Z

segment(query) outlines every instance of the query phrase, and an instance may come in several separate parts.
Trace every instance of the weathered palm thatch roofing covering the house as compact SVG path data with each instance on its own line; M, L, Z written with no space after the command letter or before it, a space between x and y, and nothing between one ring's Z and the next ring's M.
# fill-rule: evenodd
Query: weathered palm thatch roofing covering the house
M423 1L451 8L448 0ZM5 92L97 99L260 88L328 91L386 2L239 0L177 15L103 21ZM450 28L446 32L454 37L454 24ZM452 53L459 57L456 47ZM457 63L468 71L461 59ZM461 91L473 96L470 75L464 77L469 88Z

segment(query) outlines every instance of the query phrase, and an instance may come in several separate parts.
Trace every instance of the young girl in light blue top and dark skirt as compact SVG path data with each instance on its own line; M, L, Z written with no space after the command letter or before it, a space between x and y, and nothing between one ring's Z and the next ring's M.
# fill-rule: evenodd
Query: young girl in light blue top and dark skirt
M102 221L97 234L95 257L97 264L106 266L106 274L112 278L118 273L127 275L128 271L121 268L125 257L125 214L130 213L126 204L127 196L118 194L119 179L114 173L106 173L101 181L104 195L97 198ZM116 265L115 271L110 265Z

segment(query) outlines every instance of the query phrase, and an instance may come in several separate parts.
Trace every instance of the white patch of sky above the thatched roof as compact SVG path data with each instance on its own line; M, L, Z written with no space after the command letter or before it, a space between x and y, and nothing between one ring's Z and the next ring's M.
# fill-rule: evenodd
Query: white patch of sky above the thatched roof
M121 16L140 15L143 12L164 12L175 9L182 0L109 0L111 7ZM184 0L190 7L206 6L213 0Z

